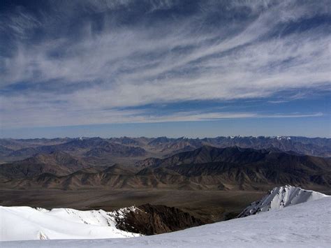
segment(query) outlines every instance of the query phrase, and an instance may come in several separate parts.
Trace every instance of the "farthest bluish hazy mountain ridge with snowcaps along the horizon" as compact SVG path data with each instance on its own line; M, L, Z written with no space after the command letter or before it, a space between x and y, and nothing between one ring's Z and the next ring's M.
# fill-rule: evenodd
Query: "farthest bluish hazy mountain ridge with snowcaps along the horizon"
M74 156L87 156L103 161L126 162L126 157L139 161L149 157L159 159L179 152L187 152L209 145L212 147L233 147L253 149L274 149L311 156L331 156L330 138L305 138L295 136L216 138L54 138L54 139L0 139L0 162L26 159L38 153L55 151ZM135 157L139 159L134 159Z

